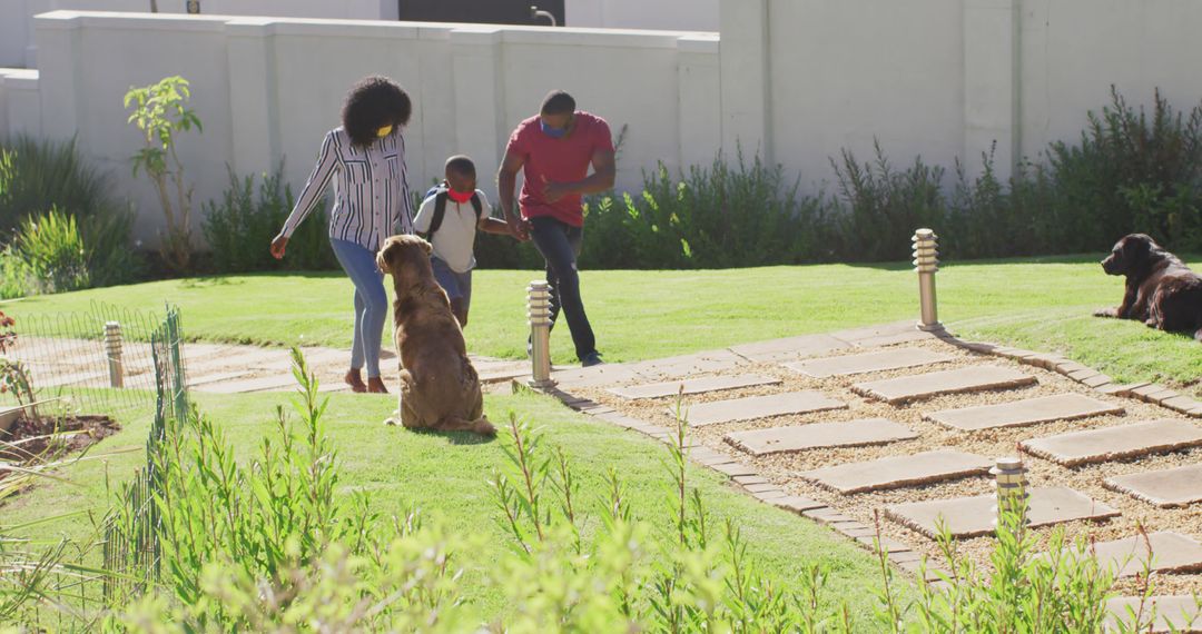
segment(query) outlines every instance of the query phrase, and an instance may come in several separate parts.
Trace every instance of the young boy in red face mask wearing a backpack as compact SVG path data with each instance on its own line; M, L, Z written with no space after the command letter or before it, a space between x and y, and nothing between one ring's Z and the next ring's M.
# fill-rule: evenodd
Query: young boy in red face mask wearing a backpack
M471 269L476 229L510 235L508 225L492 217L493 208L484 192L476 189L476 165L458 155L447 158L446 180L426 195L413 219L413 231L434 246L430 265L434 279L447 292L451 311L460 327L468 325L471 306Z

